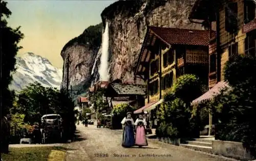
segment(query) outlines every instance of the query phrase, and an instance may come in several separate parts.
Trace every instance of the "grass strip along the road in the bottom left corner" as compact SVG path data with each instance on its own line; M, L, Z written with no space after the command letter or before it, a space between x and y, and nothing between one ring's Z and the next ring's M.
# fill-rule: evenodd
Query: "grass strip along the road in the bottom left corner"
M9 154L2 154L4 161L63 161L66 156L64 147L23 147L9 148Z

